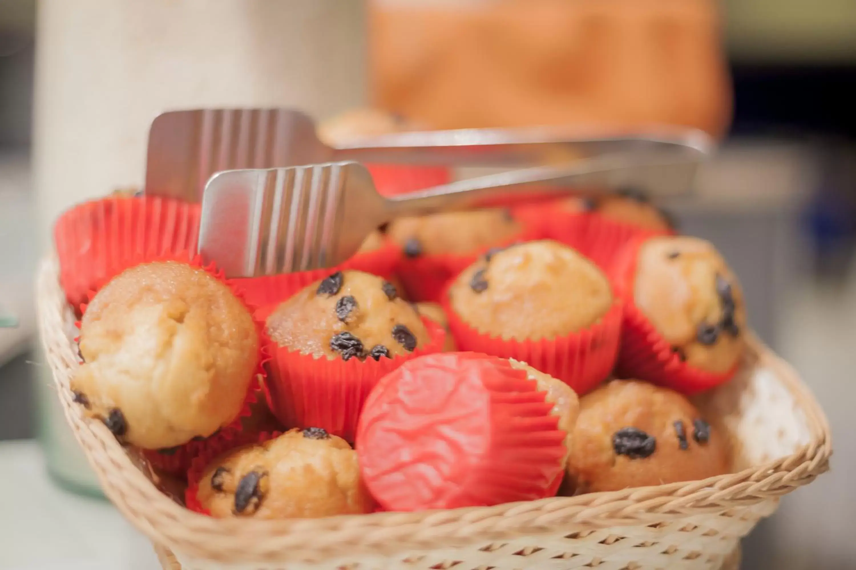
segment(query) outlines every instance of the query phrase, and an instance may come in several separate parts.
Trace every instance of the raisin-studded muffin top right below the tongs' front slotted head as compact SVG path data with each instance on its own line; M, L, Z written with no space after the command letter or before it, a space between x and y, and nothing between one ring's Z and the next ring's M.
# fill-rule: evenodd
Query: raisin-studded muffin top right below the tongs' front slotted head
M395 285L361 271L337 271L307 286L270 314L267 332L289 350L346 361L406 355L430 342Z

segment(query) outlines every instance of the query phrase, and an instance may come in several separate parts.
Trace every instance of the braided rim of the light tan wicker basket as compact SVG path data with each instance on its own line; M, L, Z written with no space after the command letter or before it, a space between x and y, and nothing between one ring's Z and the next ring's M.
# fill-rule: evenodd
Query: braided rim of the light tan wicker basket
M719 514L746 507L807 485L829 468L829 422L811 392L786 362L757 338L750 351L776 370L790 391L811 434L791 455L760 466L669 485L552 497L493 507L419 513L377 513L311 520L214 519L187 510L164 495L134 464L99 421L75 405L68 379L77 367L68 340L68 308L58 283L55 256L39 266L36 296L39 336L51 365L62 409L104 493L141 532L174 552L220 562L321 561L356 552L390 555L433 548L487 543L556 530L580 532L609 526L644 526L693 514ZM246 544L238 552L222 543Z

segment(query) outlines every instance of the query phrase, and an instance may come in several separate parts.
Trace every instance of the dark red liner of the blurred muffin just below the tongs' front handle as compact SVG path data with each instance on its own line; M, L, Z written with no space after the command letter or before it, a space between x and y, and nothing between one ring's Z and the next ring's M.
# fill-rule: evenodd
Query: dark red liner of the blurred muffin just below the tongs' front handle
M540 239L543 236L541 230L526 226L524 223L524 230L520 234L502 242L502 244L497 244L497 246L505 247ZM399 258L395 273L398 275L398 279L401 279L401 284L404 285L409 300L438 303L443 297L443 289L449 284L449 281L455 279L458 273L472 265L473 261L484 255L487 250L490 248L481 248L467 255L444 254L416 257L402 255Z

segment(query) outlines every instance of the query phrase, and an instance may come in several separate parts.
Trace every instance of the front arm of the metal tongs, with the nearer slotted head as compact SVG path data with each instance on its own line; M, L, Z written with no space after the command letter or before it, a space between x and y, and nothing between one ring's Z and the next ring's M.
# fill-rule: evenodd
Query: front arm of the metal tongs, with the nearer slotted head
M628 183L685 191L699 155L624 153L532 167L382 197L359 162L232 170L205 185L199 252L227 277L333 267L377 226L401 215L532 201L576 187ZM550 183L550 184L541 184Z

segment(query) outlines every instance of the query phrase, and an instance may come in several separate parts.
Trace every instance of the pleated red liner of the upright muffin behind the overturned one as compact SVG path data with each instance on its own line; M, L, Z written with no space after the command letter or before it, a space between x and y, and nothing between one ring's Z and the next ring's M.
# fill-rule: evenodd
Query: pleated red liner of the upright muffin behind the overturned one
M621 301L593 325L564 337L516 340L493 337L470 326L452 309L449 295L443 295L443 309L449 314L449 330L459 350L484 352L514 358L562 380L582 396L600 384L615 366L621 338Z

